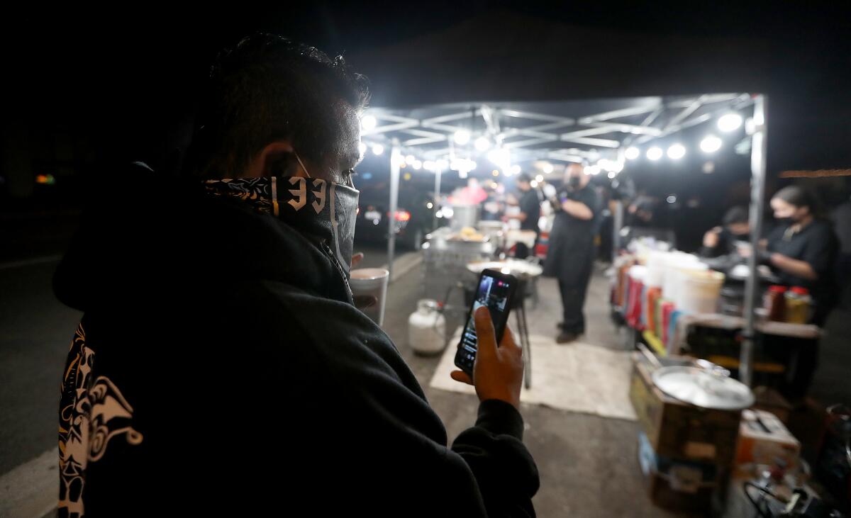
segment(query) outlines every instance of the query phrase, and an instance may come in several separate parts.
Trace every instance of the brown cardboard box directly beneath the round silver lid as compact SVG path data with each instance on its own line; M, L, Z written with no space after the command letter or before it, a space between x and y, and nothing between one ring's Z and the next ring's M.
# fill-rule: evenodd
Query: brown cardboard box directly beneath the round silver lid
M630 400L654 451L668 458L732 466L741 411L695 407L665 396L653 384L649 362L641 355L634 359ZM689 364L683 358L660 361Z

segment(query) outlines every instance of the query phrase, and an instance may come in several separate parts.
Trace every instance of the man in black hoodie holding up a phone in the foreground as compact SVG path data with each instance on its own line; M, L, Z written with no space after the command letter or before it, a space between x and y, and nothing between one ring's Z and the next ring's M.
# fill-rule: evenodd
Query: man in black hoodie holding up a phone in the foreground
M477 314L477 422L452 447L348 276L363 78L282 37L220 56L187 163L117 171L54 291L60 515L532 516L523 360ZM453 378L472 383L464 373Z

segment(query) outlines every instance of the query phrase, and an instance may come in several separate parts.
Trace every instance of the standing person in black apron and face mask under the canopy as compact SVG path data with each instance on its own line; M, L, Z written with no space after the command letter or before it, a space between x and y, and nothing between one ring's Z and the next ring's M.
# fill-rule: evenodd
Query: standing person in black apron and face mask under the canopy
M555 214L544 275L558 279L563 321L557 324L556 341L567 344L585 333L585 293L594 262L594 217L599 210L597 193L588 186L591 177L578 163L565 169L563 184L551 199Z

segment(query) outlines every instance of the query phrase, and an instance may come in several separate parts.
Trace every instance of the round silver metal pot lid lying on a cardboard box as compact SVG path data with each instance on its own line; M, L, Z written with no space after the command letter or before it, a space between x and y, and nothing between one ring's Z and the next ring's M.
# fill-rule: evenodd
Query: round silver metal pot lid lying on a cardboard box
M695 407L740 410L754 401L747 385L698 367L662 367L653 373L653 383L668 396Z

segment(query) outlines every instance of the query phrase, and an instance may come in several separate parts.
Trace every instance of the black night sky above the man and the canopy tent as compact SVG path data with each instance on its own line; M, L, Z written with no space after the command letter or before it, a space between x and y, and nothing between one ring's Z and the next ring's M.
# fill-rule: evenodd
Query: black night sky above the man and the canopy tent
M231 3L194 10L33 5L3 17L3 63L10 72L4 74L3 124L64 128L82 135L99 159L162 152L163 135L174 140L168 130L187 119L194 85L214 54L252 31L275 31L328 53L351 54L438 31L488 9L511 9L579 26L768 38L790 56L787 69L780 71L788 88L772 123L781 135L792 135L790 140L799 137L783 128L802 125L798 134L821 131L837 143L800 150L794 157L802 157L802 163L796 166L851 165L844 149L825 158L831 149L851 147L841 145L847 141L851 117L851 103L846 102L851 78L848 3L654 2L652 7L624 7L601 2L565 7L483 1L316 2L294 9L248 9ZM494 33L499 35L499 28ZM803 68L807 77L797 77ZM837 134L846 136L837 139ZM773 144L788 149L793 142Z

